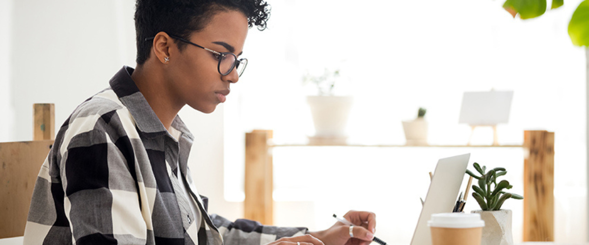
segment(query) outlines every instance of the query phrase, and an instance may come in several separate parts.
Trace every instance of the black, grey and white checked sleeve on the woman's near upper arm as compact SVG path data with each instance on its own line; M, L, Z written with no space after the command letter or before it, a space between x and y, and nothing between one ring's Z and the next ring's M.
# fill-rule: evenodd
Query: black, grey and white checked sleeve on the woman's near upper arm
M133 150L127 136L116 135L78 134L63 155L64 209L77 244L145 243Z

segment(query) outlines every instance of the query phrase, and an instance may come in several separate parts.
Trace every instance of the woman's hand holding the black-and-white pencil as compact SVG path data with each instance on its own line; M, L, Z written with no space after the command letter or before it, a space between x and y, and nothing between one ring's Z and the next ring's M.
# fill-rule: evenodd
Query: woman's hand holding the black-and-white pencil
M376 231L376 214L371 212L350 211L343 216L355 224L350 237L350 226L336 222L327 230L311 232L311 235L322 240L325 245L368 245L372 242Z

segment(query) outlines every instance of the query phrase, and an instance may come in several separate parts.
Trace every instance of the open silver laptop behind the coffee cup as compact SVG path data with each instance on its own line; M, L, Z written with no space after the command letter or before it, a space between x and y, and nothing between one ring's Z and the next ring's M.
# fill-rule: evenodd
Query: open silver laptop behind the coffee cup
M432 245L428 220L434 213L452 212L470 157L471 154L468 153L438 161L415 232L413 232L411 245Z

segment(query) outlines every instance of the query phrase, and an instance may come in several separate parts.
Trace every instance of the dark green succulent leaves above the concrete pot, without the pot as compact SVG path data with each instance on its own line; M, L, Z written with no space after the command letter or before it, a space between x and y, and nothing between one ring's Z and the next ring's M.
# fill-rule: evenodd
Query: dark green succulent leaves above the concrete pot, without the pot
M501 206L505 200L512 199L524 199L523 196L514 193L504 192L505 189L511 189L511 184L507 180L501 180L497 183L497 178L507 174L507 170L504 167L495 167L494 169L487 170L487 166L480 166L478 163L474 163L473 166L481 176L477 176L466 170L466 173L478 180L477 184L472 184L472 197L477 200L481 210L483 211L494 211L501 209Z

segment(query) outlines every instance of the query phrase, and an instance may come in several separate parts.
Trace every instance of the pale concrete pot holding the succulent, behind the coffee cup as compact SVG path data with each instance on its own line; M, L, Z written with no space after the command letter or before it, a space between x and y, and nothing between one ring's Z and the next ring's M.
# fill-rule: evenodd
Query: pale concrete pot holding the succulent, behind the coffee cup
M482 228L481 245L514 244L514 239L511 234L511 210L474 210L471 213L481 214L481 219L485 221L485 227Z

